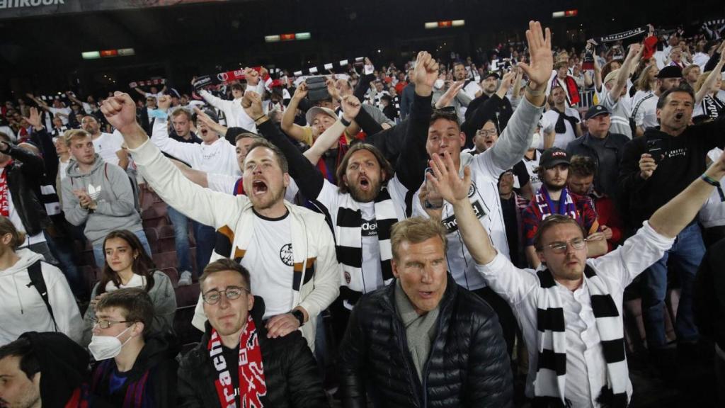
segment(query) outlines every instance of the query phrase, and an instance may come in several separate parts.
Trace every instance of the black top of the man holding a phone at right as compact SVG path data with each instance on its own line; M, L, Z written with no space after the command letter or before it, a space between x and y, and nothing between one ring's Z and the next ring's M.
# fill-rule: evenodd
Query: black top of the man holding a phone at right
M639 159L649 152L647 143L660 144L665 158L649 179L639 175ZM642 221L678 195L705 172L705 156L725 142L725 116L716 121L688 126L679 136L669 136L659 126L624 145L619 166L622 215L629 215L629 227L639 228Z

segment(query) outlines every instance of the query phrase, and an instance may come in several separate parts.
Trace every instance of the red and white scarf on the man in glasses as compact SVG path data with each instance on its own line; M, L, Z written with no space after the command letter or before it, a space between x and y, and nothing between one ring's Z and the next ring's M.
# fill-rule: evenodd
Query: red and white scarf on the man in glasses
M236 408L236 390L232 384L228 365L222 353L222 340L217 330L212 329L208 344L209 356L217 370L214 385L223 408ZM265 369L262 366L262 349L257 338L257 327L252 315L247 315L247 327L239 338L239 401L244 408L262 408L260 396L267 395Z

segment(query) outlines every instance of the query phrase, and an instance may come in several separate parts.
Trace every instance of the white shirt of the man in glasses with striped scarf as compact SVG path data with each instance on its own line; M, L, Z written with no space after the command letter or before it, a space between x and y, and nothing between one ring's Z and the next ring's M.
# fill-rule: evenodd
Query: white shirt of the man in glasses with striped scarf
M654 264L671 248L674 238L658 234L645 221L642 228L624 242L624 245L600 258L587 259L608 287L622 320L624 288ZM486 265L476 265L494 292L505 298L515 310L523 337L529 345L529 375L526 379L526 395L534 396L534 379L537 375L538 342L537 290L542 289L533 269L518 269L499 253ZM602 386L606 385L606 362L602 354L599 332L589 297L589 288L584 284L571 292L559 283L560 298L563 301L564 322L566 322L566 391L573 408L599 407L595 399ZM626 362L626 360L625 360ZM627 386L631 396L631 383Z

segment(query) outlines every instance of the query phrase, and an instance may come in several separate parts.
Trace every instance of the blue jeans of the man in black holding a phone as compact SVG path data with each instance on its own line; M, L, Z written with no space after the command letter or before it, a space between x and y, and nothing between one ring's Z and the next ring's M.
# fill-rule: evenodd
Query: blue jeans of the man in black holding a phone
M642 314L647 332L647 346L650 350L664 347L667 343L664 305L667 294L667 258L669 256L674 256L679 265L678 271L682 283L675 322L677 340L695 341L699 337L692 316L692 285L704 255L705 244L700 226L692 224L677 235L674 245L665 252L665 256L643 274Z

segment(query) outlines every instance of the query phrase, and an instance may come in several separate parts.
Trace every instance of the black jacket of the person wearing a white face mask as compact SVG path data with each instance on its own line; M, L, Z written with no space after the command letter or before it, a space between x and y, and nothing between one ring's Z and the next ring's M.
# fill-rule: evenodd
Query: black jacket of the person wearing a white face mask
M107 401L114 407L125 407L124 399L128 387L143 386L144 398L141 404L149 402L152 407L173 407L176 399L176 372L179 353L178 341L171 334L153 335L146 339L144 348L136 357L133 368L124 373L126 381L116 391L109 391L110 375L115 370L114 359L97 362L91 376L91 394L96 400ZM144 376L147 380L144 381ZM135 395L131 393L130 398ZM130 407L136 407L130 404Z

